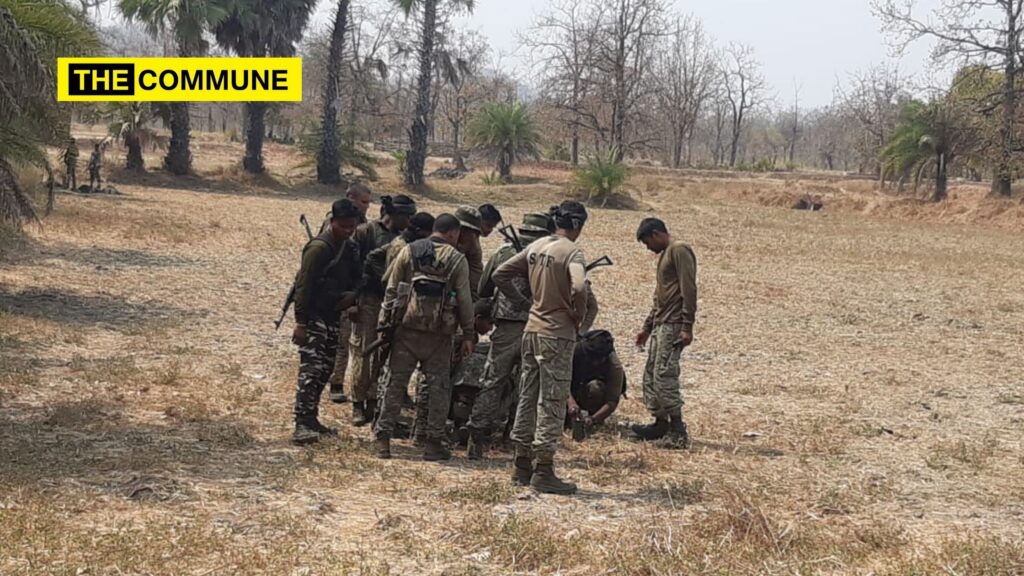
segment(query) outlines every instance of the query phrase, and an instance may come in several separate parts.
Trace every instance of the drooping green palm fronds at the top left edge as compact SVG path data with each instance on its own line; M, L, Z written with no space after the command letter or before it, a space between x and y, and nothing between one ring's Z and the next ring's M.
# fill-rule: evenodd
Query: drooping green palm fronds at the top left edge
M55 99L56 57L99 47L89 20L63 0L0 0L0 221L20 227L36 219L17 170L40 167L52 181L43 147L70 138Z

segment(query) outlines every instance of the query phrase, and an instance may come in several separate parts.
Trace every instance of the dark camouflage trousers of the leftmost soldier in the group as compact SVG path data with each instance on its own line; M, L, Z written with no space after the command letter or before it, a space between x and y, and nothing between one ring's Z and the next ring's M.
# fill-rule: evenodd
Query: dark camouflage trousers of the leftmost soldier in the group
M299 347L299 377L295 385L295 421L316 418L338 346L338 327L323 320L306 324L306 343Z

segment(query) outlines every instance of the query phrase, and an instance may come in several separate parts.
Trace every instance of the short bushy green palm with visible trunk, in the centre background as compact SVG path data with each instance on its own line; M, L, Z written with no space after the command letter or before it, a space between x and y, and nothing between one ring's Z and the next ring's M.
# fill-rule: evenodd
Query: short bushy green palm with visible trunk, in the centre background
M473 118L466 137L495 157L498 174L512 181L512 164L523 156L540 155L541 135L529 113L519 102L492 102Z

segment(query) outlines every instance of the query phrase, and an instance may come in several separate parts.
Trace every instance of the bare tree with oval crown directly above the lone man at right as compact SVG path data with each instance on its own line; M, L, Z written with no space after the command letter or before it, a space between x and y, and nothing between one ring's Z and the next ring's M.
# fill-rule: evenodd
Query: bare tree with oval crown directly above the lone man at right
M690 15L676 18L657 52L652 81L658 119L669 132L669 161L678 168L684 148L686 164L692 161L693 131L714 89L718 61L703 26Z

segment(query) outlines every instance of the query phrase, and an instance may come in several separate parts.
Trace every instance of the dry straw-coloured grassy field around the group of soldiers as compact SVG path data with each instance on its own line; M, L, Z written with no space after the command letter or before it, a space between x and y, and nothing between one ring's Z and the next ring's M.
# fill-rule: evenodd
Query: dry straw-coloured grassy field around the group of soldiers
M437 465L402 444L381 462L347 426L289 445L296 354L271 320L297 216L335 193L301 186L287 149L269 150L276 179L240 175L240 154L201 141L202 176L119 174L124 196L61 196L5 245L0 574L1024 573L1018 201L638 170L635 196L700 258L697 442L567 440L582 492L563 498L510 487L507 453ZM568 179L519 173L422 201L518 218ZM786 209L804 194L835 209ZM633 382L624 419L643 417L643 215L598 210L583 240L618 264L594 283Z

